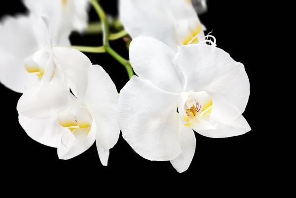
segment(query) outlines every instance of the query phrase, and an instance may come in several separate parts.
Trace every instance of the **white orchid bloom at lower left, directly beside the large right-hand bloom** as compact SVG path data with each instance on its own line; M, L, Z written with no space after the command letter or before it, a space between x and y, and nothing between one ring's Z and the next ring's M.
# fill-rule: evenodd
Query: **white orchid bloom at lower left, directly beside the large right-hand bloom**
M71 159L96 141L107 166L109 149L120 132L116 87L105 70L81 52L53 47L53 54L76 97L56 74L24 92L17 104L19 123L33 140L58 148L59 159Z

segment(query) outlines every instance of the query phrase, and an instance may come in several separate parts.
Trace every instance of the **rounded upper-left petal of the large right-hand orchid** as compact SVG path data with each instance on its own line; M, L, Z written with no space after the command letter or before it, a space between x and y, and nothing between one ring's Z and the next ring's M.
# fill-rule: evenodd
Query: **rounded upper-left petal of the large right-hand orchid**
M130 44L130 61L136 74L170 92L183 90L183 76L174 64L175 53L151 37L138 37Z

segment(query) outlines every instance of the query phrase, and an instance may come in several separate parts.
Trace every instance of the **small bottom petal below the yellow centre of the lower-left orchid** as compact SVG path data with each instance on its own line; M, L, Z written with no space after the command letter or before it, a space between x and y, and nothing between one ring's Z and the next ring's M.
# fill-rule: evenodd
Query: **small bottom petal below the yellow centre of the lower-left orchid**
M72 146L58 148L59 159L69 160L89 149L96 140L96 128L92 127L87 137L75 138Z

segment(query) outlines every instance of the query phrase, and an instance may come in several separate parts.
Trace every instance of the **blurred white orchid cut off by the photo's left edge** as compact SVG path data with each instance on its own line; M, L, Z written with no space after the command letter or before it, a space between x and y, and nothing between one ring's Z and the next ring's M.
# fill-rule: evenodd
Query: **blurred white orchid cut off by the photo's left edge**
M52 43L45 16L6 17L0 25L0 82L16 92L53 71ZM47 72L49 74L49 72ZM47 81L50 81L51 77Z

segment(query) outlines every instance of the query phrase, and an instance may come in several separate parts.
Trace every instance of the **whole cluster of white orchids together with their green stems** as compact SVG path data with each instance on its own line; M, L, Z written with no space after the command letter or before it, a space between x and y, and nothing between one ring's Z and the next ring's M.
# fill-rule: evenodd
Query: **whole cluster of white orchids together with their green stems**
M33 140L57 148L59 159L96 142L107 166L121 130L143 158L170 161L183 172L194 156L194 131L226 138L251 130L242 116L250 95L244 65L205 35L191 0L119 0L124 29L115 34L96 0L23 3L28 14L0 24L0 82L22 93L20 125ZM100 24L87 22L91 4ZM72 31L90 30L103 31L104 46L71 46ZM109 45L121 37L129 60ZM130 80L119 94L82 52L109 53L126 68Z

